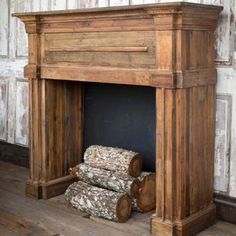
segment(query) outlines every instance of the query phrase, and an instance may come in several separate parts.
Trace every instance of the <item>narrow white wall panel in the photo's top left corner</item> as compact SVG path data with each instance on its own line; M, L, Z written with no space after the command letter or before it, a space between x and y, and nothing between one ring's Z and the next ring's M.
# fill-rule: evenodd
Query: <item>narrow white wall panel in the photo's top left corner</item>
M0 1L0 56L8 56L8 0Z

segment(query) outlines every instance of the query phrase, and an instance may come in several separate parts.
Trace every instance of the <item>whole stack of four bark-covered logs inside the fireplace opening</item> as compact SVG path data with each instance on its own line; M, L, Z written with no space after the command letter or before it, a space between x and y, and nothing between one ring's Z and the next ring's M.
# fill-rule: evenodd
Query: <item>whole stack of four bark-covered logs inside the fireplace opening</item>
M70 169L79 181L68 187L66 199L93 216L125 222L131 208L155 208L155 173L141 169L142 158L136 152L92 145L84 153L84 163Z

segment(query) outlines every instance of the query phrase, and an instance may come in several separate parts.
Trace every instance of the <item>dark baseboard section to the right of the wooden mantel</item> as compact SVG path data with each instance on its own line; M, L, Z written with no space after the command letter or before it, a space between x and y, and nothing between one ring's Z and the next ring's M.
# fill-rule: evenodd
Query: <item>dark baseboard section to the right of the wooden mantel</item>
M215 193L216 217L218 219L236 224L236 198Z

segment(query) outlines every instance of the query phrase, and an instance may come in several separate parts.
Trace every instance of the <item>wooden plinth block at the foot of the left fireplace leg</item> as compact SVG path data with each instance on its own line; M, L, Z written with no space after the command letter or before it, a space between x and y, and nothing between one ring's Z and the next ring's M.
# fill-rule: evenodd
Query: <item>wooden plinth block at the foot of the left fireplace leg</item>
M77 177L68 175L55 180L50 180L43 184L35 184L27 181L26 195L37 199L49 199L64 194L67 187L76 180Z

